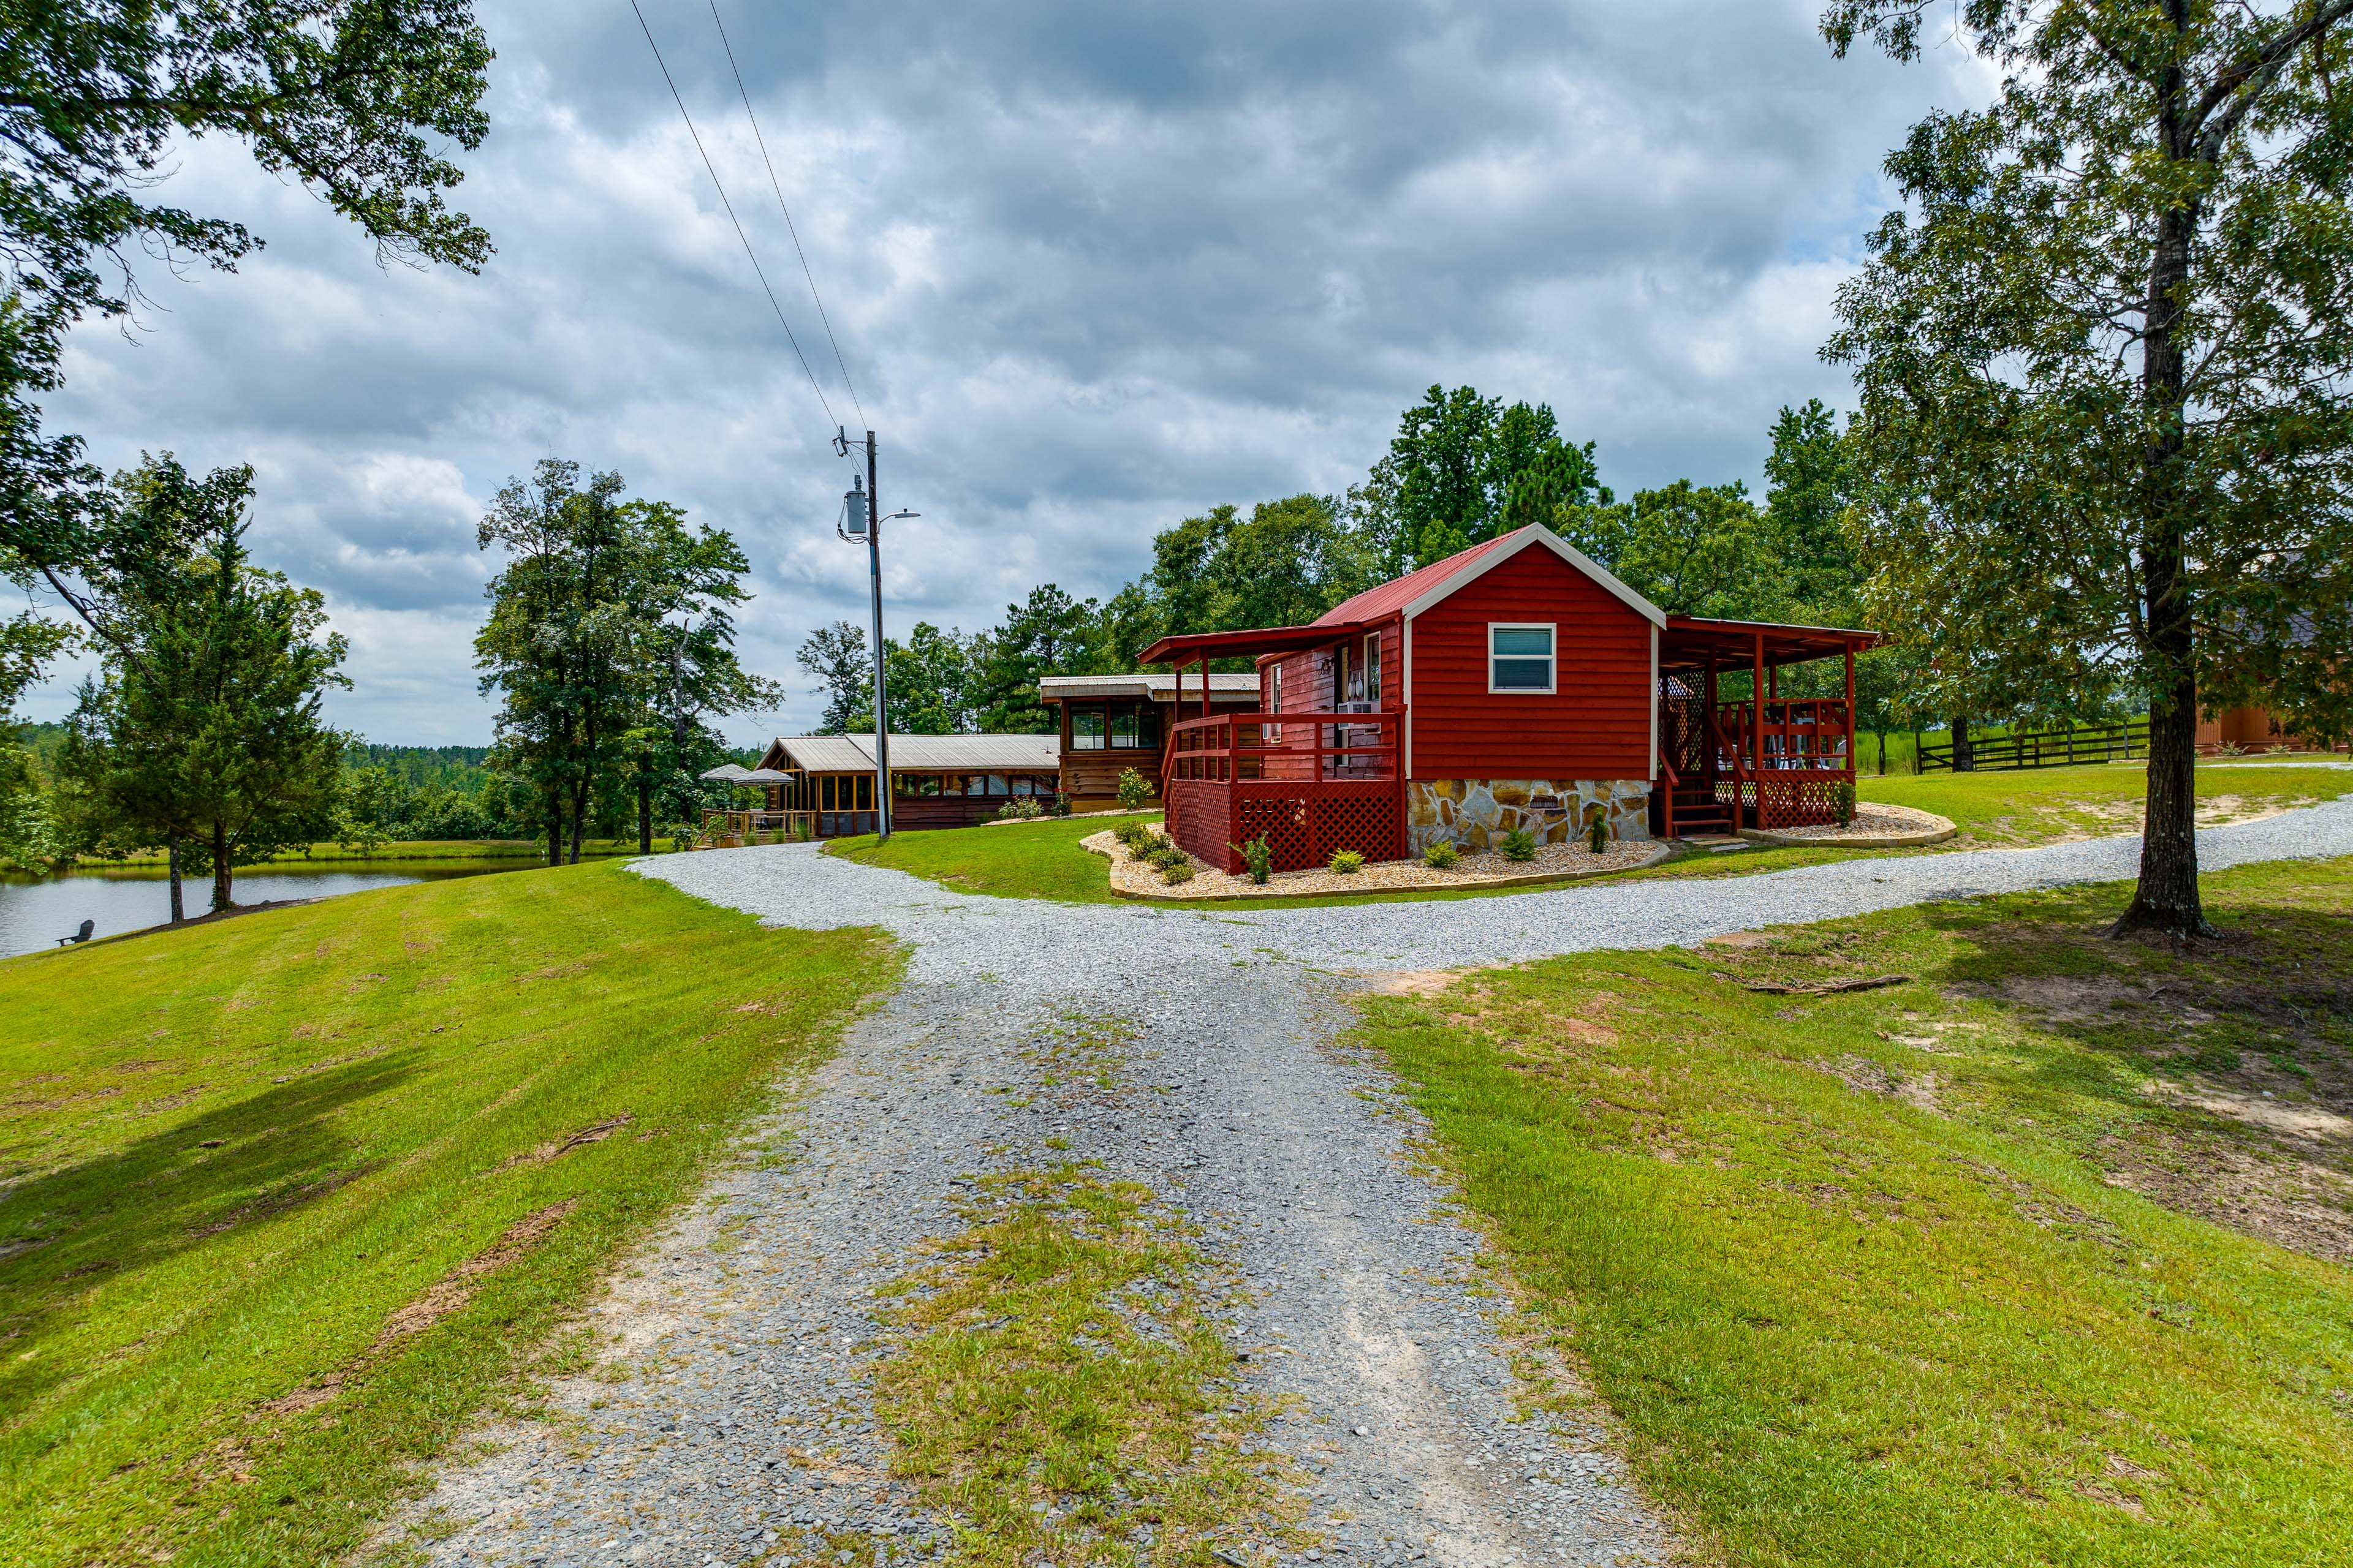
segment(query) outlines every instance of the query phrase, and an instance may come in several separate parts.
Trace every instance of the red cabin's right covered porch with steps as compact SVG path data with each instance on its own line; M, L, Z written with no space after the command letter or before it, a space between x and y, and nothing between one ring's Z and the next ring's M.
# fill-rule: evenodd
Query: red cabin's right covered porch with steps
M1659 630L1659 776L1652 832L1664 839L1817 827L1854 785L1854 656L1878 632L1668 616ZM1781 696L1781 672L1840 661L1838 696ZM1746 675L1746 696L1722 679Z

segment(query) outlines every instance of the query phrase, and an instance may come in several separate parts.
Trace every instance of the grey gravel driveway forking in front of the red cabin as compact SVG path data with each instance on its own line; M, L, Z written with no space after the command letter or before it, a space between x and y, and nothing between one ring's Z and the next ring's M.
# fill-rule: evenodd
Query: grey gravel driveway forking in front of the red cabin
M2200 835L2207 867L2353 853L2353 802ZM960 1227L988 1171L1096 1159L1202 1225L1235 1286L1235 1396L1287 1403L1306 1561L1649 1563L1671 1535L1607 1432L1515 1406L1475 1239L1417 1173L1419 1124L1339 1037L1351 980L2129 877L2137 839L1873 858L1339 910L962 898L812 846L642 863L772 924L887 926L908 983L595 1309L607 1356L558 1420L489 1434L405 1523L435 1563L906 1561L944 1521L889 1479L871 1291ZM1073 1018L1118 1018L1113 1091L1047 1086ZM1052 1152L1049 1152L1052 1150ZM1249 1561L1238 1535L1238 1561Z

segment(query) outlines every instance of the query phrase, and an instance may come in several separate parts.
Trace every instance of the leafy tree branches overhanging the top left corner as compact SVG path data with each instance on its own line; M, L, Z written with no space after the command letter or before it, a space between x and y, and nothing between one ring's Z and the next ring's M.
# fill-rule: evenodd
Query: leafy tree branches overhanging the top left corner
M40 400L85 315L127 317L129 259L233 270L261 240L148 200L174 148L242 143L376 242L478 270L489 237L447 207L475 148L489 42L471 0L47 0L0 7L0 571L47 576L104 621L85 578L111 498Z

